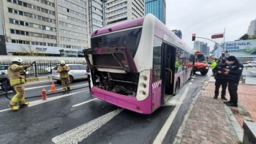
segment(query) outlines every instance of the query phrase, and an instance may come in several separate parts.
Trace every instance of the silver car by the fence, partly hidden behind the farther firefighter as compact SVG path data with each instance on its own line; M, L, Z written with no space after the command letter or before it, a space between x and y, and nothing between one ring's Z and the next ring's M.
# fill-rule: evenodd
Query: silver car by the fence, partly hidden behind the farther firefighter
M86 79L86 65L83 64L66 64L69 68L69 78L70 78L70 83L72 83L73 80L81 80L81 79ZM59 73L57 73L59 65L54 67L52 69L52 74L51 77L53 80L61 81L61 78L59 77Z

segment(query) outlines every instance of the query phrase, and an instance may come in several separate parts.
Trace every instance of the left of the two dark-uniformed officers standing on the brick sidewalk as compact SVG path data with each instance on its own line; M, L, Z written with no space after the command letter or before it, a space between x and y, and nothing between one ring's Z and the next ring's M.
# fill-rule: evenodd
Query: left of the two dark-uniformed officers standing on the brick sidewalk
M215 91L214 91L214 99L217 99L219 96L219 87L222 86L222 94L221 99L227 100L225 97L226 95L226 89L227 89L227 75L225 75L225 69L229 69L230 65L226 63L226 59L223 58L222 62L220 64L217 64L217 66L213 69L213 71L216 73L215 75Z

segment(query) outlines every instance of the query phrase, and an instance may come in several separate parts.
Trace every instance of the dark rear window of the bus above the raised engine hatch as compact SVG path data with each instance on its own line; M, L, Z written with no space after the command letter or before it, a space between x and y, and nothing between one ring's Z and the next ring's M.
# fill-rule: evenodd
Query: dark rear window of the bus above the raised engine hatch
M91 48L126 46L132 57L135 57L140 43L142 28L118 31L91 38Z

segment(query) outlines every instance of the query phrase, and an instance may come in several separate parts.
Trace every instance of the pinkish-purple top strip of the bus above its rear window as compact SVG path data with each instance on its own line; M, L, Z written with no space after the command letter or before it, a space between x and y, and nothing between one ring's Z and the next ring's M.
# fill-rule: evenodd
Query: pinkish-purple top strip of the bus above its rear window
M128 28L132 28L135 26L142 26L144 18L145 17L141 17L141 18L136 18L133 20L124 20L119 23L113 23L110 26L106 26L102 29L97 29L95 31L92 31L91 37L95 37L97 35L106 34L106 33L113 32L113 31L118 31L121 29L128 29ZM111 29L111 31L109 31L109 29Z

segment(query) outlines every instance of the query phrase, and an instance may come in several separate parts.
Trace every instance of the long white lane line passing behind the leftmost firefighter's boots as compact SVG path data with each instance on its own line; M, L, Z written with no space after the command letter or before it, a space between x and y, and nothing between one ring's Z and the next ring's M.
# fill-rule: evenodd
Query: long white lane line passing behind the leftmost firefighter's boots
M89 90L85 90L85 91L89 91ZM50 97L46 100L42 100L42 99L39 99L39 100L36 100L36 101L33 101L33 102L29 102L29 107L33 107L35 105L39 105L39 104L42 104L42 103L45 103L45 102L50 102L50 101L53 101L53 100L56 100L56 99L61 99L62 97L66 97L66 96L70 96L72 94L78 94L80 92L83 92L83 91L78 91L78 92L75 92L75 93L71 93L71 94L64 94L64 95L61 95L61 96L54 96L54 97ZM7 109L4 109L4 110L0 110L0 113L1 112L4 112L4 111L7 111L7 110L11 110L10 108L7 108Z

